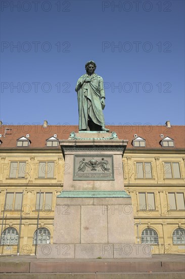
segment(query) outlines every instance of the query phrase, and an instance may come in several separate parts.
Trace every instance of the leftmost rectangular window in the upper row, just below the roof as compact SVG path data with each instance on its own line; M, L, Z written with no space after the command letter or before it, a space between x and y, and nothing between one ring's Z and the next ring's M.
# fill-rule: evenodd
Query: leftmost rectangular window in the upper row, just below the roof
M9 178L25 178L26 162L11 162Z

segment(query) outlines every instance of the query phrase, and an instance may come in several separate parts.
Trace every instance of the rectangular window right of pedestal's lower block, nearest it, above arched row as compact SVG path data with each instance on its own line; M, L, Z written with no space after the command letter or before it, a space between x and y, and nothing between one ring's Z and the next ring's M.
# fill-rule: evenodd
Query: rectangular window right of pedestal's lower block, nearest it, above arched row
M155 210L154 193L138 193L140 210Z

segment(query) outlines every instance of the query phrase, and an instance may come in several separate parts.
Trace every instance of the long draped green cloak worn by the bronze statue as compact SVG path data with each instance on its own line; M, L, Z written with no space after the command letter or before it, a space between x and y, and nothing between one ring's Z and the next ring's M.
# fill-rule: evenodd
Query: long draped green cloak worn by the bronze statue
M91 78L90 82L85 82ZM75 88L78 98L79 130L85 130L89 117L97 125L104 126L104 114L102 111L101 97L105 97L104 82L102 77L92 74L81 76Z

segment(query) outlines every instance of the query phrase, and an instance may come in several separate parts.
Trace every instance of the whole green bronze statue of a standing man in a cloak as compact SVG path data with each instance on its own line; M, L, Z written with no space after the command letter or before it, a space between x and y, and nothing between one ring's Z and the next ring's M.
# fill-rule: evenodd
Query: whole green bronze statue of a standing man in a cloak
M96 63L85 64L86 74L81 76L75 88L78 97L79 130L106 131L103 110L105 91L102 77L95 74Z

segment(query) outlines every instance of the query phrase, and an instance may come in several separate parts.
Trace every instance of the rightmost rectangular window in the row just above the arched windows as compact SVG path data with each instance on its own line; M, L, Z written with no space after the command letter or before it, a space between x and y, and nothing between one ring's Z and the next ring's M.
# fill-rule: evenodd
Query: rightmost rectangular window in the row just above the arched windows
M185 210L183 193L168 193L168 203L170 210Z

